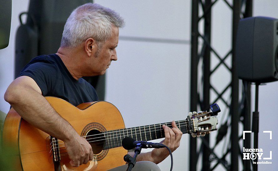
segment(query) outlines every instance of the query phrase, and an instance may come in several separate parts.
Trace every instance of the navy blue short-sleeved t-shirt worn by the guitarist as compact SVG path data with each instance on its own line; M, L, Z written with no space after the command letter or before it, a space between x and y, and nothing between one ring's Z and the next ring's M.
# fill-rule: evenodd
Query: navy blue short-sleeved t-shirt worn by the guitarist
M43 96L58 97L74 106L99 100L93 86L83 78L74 79L56 54L33 58L19 76L29 76L36 81Z

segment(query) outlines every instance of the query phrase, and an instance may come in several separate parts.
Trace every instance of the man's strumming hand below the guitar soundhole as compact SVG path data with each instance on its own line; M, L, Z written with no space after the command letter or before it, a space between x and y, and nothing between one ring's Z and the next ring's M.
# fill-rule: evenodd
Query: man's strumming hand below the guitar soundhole
M89 160L94 158L91 145L85 138L77 135L69 141L64 141L70 164L73 167L78 167L81 164L87 164Z

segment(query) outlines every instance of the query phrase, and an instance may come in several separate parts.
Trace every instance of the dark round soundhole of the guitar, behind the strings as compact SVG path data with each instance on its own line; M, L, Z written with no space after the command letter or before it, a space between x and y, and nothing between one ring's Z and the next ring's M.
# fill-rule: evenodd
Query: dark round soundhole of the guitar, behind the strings
M102 151L104 147L105 137L100 131L96 129L89 131L86 135L86 140L92 146L94 154L99 154Z

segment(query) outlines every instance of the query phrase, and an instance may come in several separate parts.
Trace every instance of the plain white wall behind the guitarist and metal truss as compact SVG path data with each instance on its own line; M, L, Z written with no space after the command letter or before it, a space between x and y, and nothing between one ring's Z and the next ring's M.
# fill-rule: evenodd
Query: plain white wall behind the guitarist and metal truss
M126 127L184 119L189 112L190 102L190 45L127 41L121 39L121 36L190 40L191 2L180 0L132 2L95 0L95 2L119 12L126 21L126 27L120 30L118 61L112 62L107 71L106 85L106 100L115 104L120 110ZM4 101L3 95L13 79L14 40L19 25L18 14L26 11L27 7L28 0L12 1L10 44L6 49L0 50L0 110L6 113L9 105ZM278 18L277 8L278 3L275 0L254 1L254 16ZM212 45L221 56L231 47L231 15L224 2L216 2L212 12ZM199 30L202 32L201 27ZM231 58L228 58L226 63L229 65L230 61ZM216 65L216 62L217 59L213 58L211 65ZM229 72L221 67L211 83L221 91L229 79ZM277 86L278 82L260 86L260 132L273 131L271 141L267 141L264 134L259 134L259 147L264 151L272 150L273 162L271 165L259 165L260 170L272 170L278 166L275 162L278 157L277 147L274 145L277 142L275 133L278 131L275 127L277 121L275 116L278 111ZM214 97L212 93L211 100ZM229 99L229 93L225 95L225 99ZM222 108L222 111L219 117L220 124L222 117L225 117L225 109ZM212 145L215 136L216 132L212 133ZM217 154L222 153L224 144L221 143L216 147ZM173 157L173 170L188 170L188 135L183 135L181 146L173 153ZM161 162L159 167L162 171L169 170L170 158ZM242 168L241 165L240 167ZM200 169L199 166L198 168ZM223 170L223 167L219 166L217 170Z

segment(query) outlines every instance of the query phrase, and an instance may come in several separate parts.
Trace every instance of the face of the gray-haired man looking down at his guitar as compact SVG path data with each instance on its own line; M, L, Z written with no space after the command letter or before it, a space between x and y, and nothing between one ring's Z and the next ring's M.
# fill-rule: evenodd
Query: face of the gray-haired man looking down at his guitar
M99 53L95 53L92 61L92 72L94 75L103 75L109 68L111 61L117 60L116 47L119 41L119 28L112 26L112 36L106 40Z

